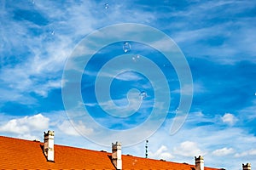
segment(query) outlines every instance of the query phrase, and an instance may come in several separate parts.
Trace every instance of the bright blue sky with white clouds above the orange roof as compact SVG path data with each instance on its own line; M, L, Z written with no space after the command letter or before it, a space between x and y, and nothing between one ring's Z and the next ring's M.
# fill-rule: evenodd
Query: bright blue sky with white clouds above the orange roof
M67 118L61 82L63 88L65 81L72 80L63 79L62 74L79 42L91 32L114 24L137 23L164 32L183 52L193 78L193 101L186 121L170 135L180 92L188 88L180 89L172 63L140 42L128 41L131 49L125 53L125 40L102 47L84 67L81 105L90 116L103 127L124 130L148 120L154 107L157 111L166 109L161 103L154 105L154 83L158 81L150 82L136 71L114 77L109 90L113 103L119 106L129 103L127 93L131 92L130 109L139 107L134 115L108 115L102 108L116 111L109 107L111 103L97 103L94 87L103 65L126 54L131 64L150 72L146 64L141 64L145 57L163 71L171 94L165 122L147 138L148 157L194 164L194 156L201 154L208 167L241 169L241 163L247 162L256 167L255 17L253 1L1 1L0 134L42 140L43 132L52 129L56 144L110 151L110 146L96 144L79 133L95 134L109 140L109 145L115 142L114 136L98 133L90 122ZM168 45L163 42L161 47ZM129 69L130 64L124 67ZM108 71L103 76L113 77ZM137 91L129 91L131 88ZM142 92L147 94L143 100L139 99ZM148 134L147 129L139 132ZM140 142L125 147L123 152L144 156L146 139L139 135L127 138Z

